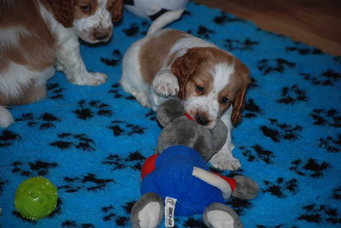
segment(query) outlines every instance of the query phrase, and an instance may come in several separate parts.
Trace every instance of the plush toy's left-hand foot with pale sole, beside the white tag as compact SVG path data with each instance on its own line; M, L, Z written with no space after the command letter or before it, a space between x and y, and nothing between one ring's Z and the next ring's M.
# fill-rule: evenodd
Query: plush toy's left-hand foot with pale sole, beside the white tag
M155 193L144 194L131 209L130 219L133 228L154 228L161 224L163 200Z

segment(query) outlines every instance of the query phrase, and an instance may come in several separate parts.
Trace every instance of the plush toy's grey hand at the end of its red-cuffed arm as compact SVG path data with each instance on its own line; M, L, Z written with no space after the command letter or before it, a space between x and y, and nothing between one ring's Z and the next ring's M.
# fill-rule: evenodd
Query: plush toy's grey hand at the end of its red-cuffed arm
M233 197L240 199L253 199L258 195L259 186L256 182L248 177L234 176L236 180L236 188L232 193Z

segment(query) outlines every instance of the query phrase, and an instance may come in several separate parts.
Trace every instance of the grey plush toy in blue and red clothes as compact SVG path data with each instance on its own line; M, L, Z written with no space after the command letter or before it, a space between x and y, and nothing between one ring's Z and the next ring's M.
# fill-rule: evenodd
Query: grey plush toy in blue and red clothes
M191 120L181 101L160 105L162 129L155 154L142 166L142 197L131 211L132 227L174 226L174 216L203 214L208 227L242 227L239 216L225 205L231 197L253 199L259 187L244 176L228 178L210 172L207 161L224 145L227 127L221 120L207 129Z

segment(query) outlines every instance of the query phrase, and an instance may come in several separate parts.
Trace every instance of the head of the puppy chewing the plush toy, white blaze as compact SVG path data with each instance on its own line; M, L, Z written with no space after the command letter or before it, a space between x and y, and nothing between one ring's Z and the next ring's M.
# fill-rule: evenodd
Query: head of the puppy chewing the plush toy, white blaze
M249 69L228 52L213 47L196 47L178 57L171 70L178 78L178 97L184 110L199 124L211 129L231 105L231 121L241 121Z

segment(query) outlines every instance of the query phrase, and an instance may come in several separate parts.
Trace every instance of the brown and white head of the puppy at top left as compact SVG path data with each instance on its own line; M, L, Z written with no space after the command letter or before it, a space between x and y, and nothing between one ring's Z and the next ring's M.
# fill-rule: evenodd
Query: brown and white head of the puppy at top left
M48 0L54 16L88 43L110 39L113 23L122 17L123 0Z

